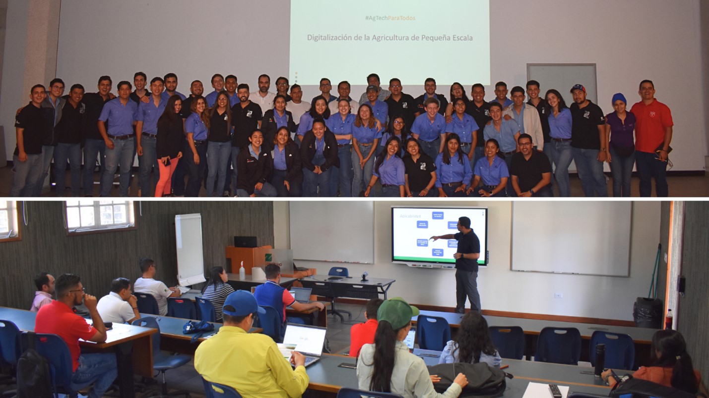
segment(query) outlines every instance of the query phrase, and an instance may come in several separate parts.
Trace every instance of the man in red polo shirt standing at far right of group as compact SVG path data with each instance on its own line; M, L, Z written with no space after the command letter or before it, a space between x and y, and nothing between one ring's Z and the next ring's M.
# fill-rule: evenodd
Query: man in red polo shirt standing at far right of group
M667 156L672 141L672 114L667 105L655 99L652 81L640 82L642 101L632 105L635 115L635 164L640 175L640 196L652 194L652 179L655 179L657 197L668 197Z

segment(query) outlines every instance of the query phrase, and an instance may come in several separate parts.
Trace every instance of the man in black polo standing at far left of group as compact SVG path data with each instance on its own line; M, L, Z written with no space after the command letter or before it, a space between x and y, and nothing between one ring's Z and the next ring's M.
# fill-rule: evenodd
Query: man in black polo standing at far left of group
M36 84L30 90L30 103L15 117L17 146L13 154L11 197L30 197L42 175L42 141L44 138L45 118L42 101L47 96L47 89Z

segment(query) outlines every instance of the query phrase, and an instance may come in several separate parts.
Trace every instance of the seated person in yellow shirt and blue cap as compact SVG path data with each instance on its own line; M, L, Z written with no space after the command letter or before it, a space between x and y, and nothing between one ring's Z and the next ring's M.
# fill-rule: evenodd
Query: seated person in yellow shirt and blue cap
M300 397L308 387L306 358L293 351L291 368L274 341L249 333L256 313L265 314L254 296L235 291L223 307L224 325L194 353L194 368L205 380L235 388L244 398ZM238 363L238 366L234 364Z

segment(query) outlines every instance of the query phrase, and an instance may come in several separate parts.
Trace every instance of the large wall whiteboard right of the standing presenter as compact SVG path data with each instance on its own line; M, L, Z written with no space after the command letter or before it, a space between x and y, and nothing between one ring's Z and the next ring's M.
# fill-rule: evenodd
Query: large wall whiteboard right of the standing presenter
M513 271L630 276L630 201L515 201Z

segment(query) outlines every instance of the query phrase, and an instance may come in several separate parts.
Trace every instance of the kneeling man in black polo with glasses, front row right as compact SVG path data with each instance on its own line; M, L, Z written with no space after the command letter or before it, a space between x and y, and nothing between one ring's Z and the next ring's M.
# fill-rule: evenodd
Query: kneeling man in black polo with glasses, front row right
M520 151L512 156L510 175L518 197L553 197L552 165L549 158L532 148L532 136L520 134Z

